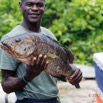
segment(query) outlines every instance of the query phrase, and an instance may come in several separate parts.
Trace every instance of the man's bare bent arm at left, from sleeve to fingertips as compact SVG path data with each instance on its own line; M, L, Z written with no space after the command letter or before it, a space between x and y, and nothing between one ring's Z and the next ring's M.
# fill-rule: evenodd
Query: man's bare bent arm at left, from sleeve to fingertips
M31 64L26 68L26 74L24 79L28 82L32 81L38 76L48 65L46 61L47 56L40 54L37 58L34 57L31 60ZM25 83L22 77L15 77L16 71L1 70L2 73L2 87L6 93L15 92L23 89L27 83Z

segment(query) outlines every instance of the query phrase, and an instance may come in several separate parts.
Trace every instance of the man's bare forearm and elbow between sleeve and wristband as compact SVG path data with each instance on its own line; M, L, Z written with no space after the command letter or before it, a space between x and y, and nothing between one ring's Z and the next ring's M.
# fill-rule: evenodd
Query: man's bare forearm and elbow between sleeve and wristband
M1 70L2 73L2 87L6 93L18 91L25 87L26 83L23 82L21 77L14 77L15 71Z

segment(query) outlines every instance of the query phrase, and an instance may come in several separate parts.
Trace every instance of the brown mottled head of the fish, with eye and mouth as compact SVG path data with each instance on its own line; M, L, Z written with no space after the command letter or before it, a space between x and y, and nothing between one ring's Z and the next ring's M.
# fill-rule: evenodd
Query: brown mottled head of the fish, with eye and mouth
M16 59L27 58L35 47L34 39L29 34L10 37L1 42L1 48Z

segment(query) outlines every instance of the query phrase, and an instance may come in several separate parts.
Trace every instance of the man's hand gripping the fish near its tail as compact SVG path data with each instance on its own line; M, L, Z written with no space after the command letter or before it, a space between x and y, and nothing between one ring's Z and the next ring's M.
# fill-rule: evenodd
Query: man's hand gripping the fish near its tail
M67 78L67 80L72 85L79 84L79 82L82 80L82 72L81 72L81 70L80 69L75 69L74 73L70 76L70 78Z

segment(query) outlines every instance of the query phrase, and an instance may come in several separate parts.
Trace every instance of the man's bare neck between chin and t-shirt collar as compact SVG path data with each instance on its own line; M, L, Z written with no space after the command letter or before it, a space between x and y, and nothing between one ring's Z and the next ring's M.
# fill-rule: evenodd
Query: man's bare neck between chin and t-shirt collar
M33 32L40 32L40 23L35 23L35 24L30 24L30 23L26 23L26 22L22 22L21 24L23 27L25 27L26 29L33 31Z

